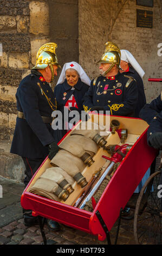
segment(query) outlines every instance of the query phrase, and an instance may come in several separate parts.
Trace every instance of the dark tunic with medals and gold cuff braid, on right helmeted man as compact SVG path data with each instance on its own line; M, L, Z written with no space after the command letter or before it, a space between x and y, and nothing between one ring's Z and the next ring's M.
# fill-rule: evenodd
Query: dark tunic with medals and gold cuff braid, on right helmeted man
M102 106L111 115L134 117L138 101L138 88L133 77L118 73L115 76L94 78L83 97L85 111Z

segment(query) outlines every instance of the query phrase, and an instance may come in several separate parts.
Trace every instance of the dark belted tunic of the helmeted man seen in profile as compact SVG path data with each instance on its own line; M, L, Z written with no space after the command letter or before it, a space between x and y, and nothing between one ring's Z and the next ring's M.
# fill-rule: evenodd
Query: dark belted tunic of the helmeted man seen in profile
M48 155L46 146L54 142L54 131L42 117L51 118L53 109L43 92L55 105L53 90L39 72L33 71L21 81L16 93L17 110L25 119L16 119L11 153L30 159L45 159Z

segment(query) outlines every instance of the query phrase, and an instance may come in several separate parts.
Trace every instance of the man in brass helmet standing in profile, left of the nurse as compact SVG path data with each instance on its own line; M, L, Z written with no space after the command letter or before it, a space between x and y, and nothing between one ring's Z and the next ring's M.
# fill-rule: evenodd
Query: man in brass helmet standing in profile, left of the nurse
M57 75L59 67L55 54L55 43L43 45L37 52L36 65L31 74L23 78L17 93L17 119L11 153L20 155L25 164L25 186L44 159L52 159L59 150L51 129L51 113L55 110L55 100L50 82ZM24 224L37 222L31 210L24 210ZM57 222L48 220L50 228L60 229Z

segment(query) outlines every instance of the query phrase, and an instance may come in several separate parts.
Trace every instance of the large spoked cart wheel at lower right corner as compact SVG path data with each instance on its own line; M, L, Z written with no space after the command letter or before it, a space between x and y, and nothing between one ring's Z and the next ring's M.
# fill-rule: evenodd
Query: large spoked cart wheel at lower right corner
M155 172L147 179L137 200L134 212L134 238L138 245L161 244L162 216L158 198L160 173Z

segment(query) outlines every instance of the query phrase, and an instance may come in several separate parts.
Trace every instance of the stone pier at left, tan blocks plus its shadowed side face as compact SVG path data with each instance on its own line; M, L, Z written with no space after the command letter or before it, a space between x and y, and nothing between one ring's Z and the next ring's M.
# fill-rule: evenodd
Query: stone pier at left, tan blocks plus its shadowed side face
M11 140L16 90L35 65L38 49L54 41L61 66L78 62L78 0L0 0L0 6L0 138Z

